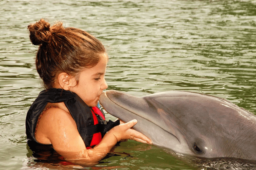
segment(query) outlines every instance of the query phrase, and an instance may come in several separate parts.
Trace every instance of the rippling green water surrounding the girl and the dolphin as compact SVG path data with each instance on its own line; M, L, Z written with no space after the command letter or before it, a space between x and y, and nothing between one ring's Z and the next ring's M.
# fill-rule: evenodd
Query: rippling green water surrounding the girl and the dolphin
M43 90L27 26L41 18L103 42L108 89L135 96L200 92L256 113L255 0L0 0L0 6L0 169L72 169L36 163L26 144L26 112ZM85 169L207 169L134 141L112 154Z

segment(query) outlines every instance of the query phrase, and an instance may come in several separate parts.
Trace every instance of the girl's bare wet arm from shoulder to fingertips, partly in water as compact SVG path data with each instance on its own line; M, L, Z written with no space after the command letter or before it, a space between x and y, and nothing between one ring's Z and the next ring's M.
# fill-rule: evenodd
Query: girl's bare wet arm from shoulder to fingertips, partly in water
M72 116L62 109L50 108L40 119L36 140L43 144L51 143L59 154L72 163L91 166L104 158L120 140L133 139L151 144L149 138L131 129L136 123L133 120L112 128L98 145L93 149L86 149Z

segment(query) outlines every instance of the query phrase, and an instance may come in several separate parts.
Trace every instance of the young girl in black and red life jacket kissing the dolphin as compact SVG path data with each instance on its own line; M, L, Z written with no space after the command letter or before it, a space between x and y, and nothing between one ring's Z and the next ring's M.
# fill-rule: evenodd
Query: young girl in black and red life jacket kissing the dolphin
M120 140L151 144L131 129L136 120L106 124L96 107L106 89L108 56L100 41L62 23L50 27L43 19L28 26L32 44L39 45L36 69L46 90L40 92L26 117L29 141L50 145L65 160L93 165Z

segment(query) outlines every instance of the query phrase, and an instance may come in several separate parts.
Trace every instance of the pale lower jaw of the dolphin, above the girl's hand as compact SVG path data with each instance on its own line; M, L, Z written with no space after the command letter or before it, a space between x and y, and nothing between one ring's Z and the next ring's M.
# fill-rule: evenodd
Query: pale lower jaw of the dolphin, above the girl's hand
M186 141L183 138L178 139L175 135L167 132L151 121L119 106L109 99L106 93L103 93L100 96L100 104L107 111L107 113L115 116L123 122L129 122L136 119L138 123L133 128L148 136L152 140L153 145L169 148L174 152L192 154L192 151L189 149ZM155 135L156 133L160 135Z

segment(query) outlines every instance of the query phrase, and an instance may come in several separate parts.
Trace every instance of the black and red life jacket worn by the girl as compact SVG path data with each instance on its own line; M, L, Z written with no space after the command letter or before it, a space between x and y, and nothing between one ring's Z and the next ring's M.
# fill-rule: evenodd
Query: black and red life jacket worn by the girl
M119 122L105 120L105 115L98 107L89 107L75 93L63 89L47 89L39 93L36 100L28 110L26 117L27 139L36 141L35 130L38 116L47 103L64 102L77 125L77 130L82 137L87 149L97 145L105 133L119 125Z

